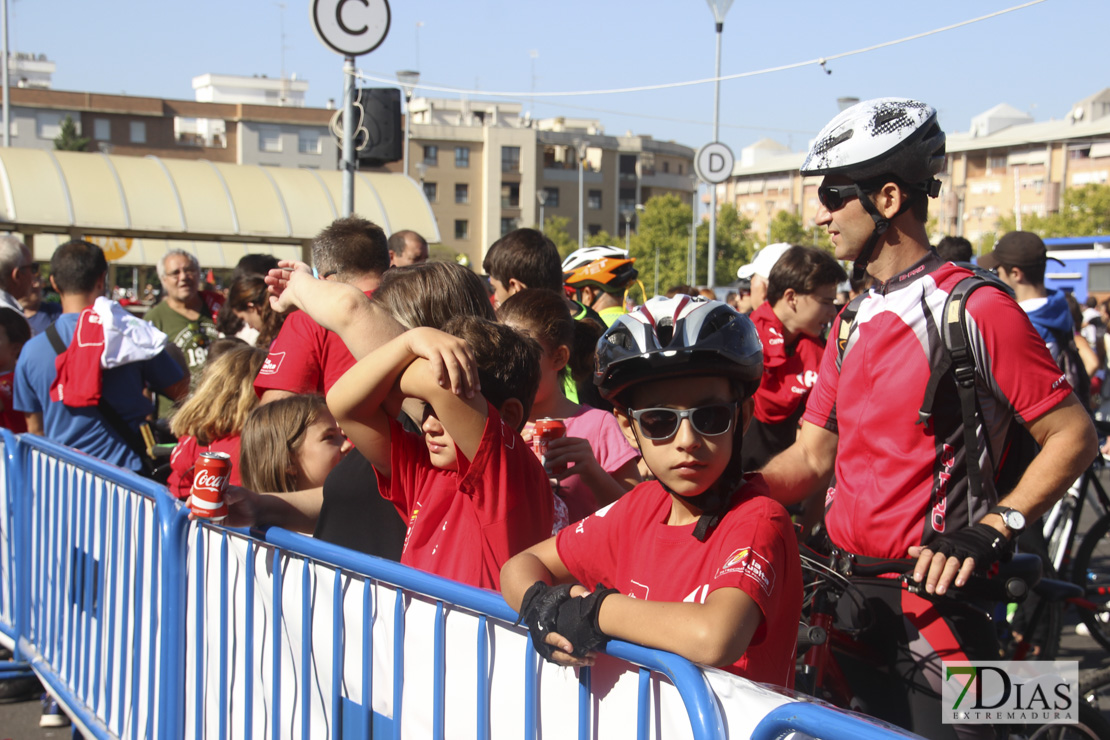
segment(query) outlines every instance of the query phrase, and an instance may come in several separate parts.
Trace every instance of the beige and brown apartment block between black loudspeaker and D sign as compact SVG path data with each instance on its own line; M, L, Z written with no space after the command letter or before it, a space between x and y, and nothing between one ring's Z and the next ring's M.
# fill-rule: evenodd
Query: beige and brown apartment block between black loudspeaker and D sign
M623 236L636 204L656 195L693 201L695 152L682 144L607 135L588 119L534 121L513 102L416 98L410 111L408 174L423 183L443 244L472 264L503 234L551 216L578 233L579 151L585 233Z

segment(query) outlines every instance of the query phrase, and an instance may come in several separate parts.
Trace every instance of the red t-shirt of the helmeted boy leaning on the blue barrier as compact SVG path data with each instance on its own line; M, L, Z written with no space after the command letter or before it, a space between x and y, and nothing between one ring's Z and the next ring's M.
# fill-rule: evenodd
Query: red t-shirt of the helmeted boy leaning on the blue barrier
M748 649L724 670L753 681L794 686L801 615L801 562L790 517L749 475L736 504L705 543L694 524L672 527L670 495L656 480L556 535L559 558L581 582L602 584L650 601L705 604L718 588L738 588L763 611Z

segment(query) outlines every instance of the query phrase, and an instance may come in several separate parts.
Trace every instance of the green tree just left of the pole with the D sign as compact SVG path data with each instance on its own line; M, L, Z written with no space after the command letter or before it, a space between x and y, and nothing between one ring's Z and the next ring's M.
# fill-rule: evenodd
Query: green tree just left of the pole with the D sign
M656 294L656 264L659 295L686 283L693 216L690 206L673 193L657 195L644 204L639 229L632 236L630 255L649 296Z

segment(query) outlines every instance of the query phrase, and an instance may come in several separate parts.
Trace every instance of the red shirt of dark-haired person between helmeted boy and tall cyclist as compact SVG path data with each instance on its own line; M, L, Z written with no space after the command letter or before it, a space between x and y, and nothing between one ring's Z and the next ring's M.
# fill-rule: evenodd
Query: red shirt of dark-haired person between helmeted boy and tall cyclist
M764 374L755 395L755 415L764 424L779 424L806 403L817 382L825 343L804 334L787 354L786 328L770 303L753 311L751 322L764 345Z

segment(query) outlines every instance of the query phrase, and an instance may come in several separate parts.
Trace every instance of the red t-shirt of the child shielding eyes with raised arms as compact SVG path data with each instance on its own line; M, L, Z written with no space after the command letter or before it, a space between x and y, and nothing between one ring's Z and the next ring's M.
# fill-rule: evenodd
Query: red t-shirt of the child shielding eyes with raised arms
M456 446L458 470L433 467L424 436L390 420L390 478L382 496L408 523L401 562L497 590L508 558L551 537L547 474L524 439L488 405L473 460Z

